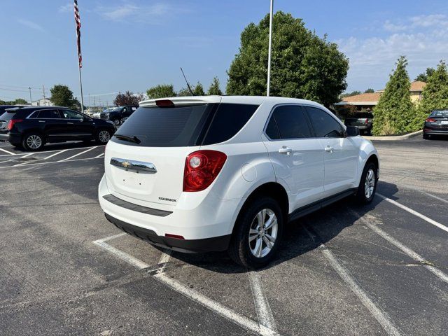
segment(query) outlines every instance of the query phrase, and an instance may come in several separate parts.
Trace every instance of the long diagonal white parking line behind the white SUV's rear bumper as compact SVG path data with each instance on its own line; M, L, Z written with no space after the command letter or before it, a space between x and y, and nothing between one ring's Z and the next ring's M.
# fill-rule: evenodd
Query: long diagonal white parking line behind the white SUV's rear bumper
M130 265L133 265L134 267L137 267L138 269L145 269L150 267L148 264L146 264L146 262L134 258L132 255L129 255L119 250L118 248L115 248L105 243L104 239L93 241L93 243L97 244L98 246L101 246L102 248L106 249L106 251L113 253L113 255L116 255L121 260L124 260L125 262L129 263ZM168 262L169 258L170 258L169 254L162 253L162 256L160 257L159 260L159 264ZM177 293L180 293L183 296L187 297L188 299L201 304L202 306L206 307L207 309L210 309L211 311L214 311L216 314L224 318L227 318L233 323L241 326L241 328L244 328L246 330L264 336L279 335L274 330L270 330L269 328L266 328L264 325L260 325L259 323L256 323L255 321L251 320L250 318L247 318L246 316L241 315L228 307L225 307L223 304L211 300L209 297L202 295L196 290L193 290L192 288L183 285L183 283L181 283L180 281L177 281L176 279L167 276L163 272L157 272L156 274L153 275L153 277L154 279L157 279L160 283L169 286L169 288L172 288Z

